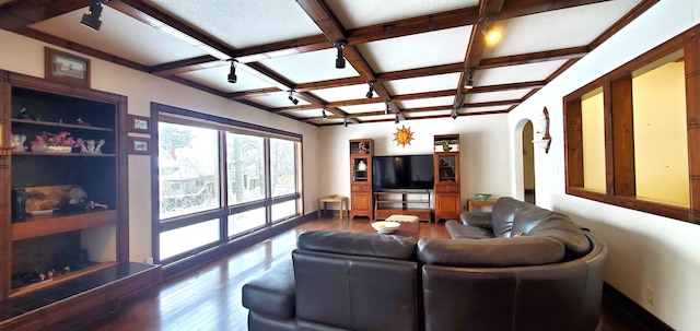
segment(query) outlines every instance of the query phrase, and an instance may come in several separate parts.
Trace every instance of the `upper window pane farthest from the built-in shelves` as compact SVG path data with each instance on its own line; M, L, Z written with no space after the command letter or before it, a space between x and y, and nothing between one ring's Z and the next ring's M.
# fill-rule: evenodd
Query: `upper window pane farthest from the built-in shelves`
M270 139L270 174L272 197L296 192L296 153L294 142Z

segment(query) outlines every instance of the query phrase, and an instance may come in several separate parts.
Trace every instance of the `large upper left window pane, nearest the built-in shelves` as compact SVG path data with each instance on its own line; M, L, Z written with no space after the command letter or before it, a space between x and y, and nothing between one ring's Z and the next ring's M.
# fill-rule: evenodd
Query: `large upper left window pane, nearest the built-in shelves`
M217 130L159 122L161 220L221 206Z

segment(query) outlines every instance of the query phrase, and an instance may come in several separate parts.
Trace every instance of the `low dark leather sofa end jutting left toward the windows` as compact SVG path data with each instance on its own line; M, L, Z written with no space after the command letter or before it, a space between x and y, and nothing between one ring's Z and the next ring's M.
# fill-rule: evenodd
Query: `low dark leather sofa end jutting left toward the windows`
M296 284L291 259L243 285L242 292L243 306L250 311L282 320L296 316Z

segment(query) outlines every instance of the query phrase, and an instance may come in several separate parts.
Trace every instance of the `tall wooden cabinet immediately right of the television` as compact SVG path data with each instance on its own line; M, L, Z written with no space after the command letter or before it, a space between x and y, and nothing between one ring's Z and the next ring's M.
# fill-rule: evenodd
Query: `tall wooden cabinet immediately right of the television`
M459 134L435 135L433 145L435 221L459 220L462 212Z

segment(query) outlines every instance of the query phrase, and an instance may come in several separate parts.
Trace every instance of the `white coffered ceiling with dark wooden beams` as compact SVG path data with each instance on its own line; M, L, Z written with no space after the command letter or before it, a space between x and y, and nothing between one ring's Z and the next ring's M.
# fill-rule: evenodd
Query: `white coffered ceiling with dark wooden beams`
M332 126L508 113L656 2L110 0L93 31L90 0L0 0L0 28Z

